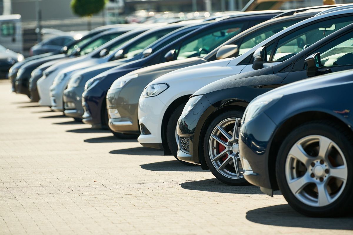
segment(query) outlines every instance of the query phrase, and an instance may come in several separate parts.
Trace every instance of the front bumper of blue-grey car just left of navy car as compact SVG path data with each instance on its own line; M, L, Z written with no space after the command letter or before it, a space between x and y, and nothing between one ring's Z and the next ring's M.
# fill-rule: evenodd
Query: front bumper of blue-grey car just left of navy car
M82 107L82 93L84 92L84 87L73 87L67 88L63 92L64 100L64 113L67 117L82 118L84 113Z

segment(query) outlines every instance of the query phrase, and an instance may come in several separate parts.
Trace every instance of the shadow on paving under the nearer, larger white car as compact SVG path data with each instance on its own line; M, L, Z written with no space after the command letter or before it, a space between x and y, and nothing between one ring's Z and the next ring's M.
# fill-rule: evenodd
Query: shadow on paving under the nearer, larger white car
M185 166L177 160L153 162L140 165L142 169L149 171L189 171L197 172L203 171L199 166Z

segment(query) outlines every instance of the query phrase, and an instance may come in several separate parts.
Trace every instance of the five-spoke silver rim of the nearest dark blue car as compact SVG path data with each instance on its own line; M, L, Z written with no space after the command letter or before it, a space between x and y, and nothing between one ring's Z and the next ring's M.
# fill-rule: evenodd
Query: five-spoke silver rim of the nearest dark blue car
M321 135L306 136L291 148L286 159L289 189L309 206L326 206L342 193L347 163L335 142Z

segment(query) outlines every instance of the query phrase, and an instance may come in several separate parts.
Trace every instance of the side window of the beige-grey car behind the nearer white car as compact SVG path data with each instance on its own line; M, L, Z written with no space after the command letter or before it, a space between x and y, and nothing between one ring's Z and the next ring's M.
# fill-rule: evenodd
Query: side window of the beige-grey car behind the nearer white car
M243 55L245 52L255 47L257 44L263 42L265 39L275 35L276 33L286 29L293 24L298 23L301 20L303 19L288 20L271 24L261 28L260 30L256 30L255 32L250 33L250 35L244 37L243 42L239 45L239 55Z

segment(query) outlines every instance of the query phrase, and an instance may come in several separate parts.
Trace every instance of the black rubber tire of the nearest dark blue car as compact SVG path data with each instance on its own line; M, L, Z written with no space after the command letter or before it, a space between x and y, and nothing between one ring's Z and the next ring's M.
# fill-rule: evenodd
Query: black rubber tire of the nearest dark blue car
M290 190L285 174L287 155L292 146L301 138L310 135L321 135L330 138L339 148L347 162L348 177L341 195L331 204L321 207L307 205L294 196ZM276 178L278 186L292 208L301 214L313 217L336 217L352 213L353 208L353 138L350 132L331 121L308 122L295 128L282 142L276 159Z

